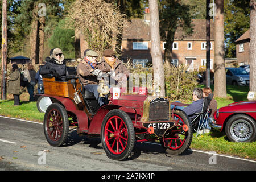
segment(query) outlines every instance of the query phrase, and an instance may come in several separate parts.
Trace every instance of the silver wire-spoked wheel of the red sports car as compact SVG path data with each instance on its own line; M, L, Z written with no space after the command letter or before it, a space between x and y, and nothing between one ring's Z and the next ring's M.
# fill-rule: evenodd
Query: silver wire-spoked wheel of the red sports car
M229 118L225 131L232 142L253 142L256 139L255 121L245 114L237 114Z

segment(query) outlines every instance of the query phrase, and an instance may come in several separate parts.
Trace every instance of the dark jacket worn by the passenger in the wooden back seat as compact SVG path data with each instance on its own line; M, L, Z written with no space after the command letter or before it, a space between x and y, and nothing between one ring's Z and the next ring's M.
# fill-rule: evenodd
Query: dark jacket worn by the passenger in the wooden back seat
M66 80L66 65L63 62L63 64L57 64L54 59L51 59L49 57L46 57L46 64L44 64L40 70L40 75L46 75L46 74L52 74L56 80Z

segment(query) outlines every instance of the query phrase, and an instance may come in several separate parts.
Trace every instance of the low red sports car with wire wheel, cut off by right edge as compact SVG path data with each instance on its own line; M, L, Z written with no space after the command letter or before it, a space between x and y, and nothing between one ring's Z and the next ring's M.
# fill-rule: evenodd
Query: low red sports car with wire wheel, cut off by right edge
M233 142L253 142L256 139L256 101L234 102L214 113L212 126Z

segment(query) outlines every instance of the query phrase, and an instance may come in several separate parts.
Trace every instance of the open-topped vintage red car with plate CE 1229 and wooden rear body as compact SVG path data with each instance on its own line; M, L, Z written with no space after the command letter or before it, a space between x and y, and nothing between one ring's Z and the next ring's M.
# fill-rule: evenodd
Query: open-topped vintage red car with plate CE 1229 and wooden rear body
M83 90L79 78L56 81L43 76L43 84L41 97L51 100L44 115L44 134L51 146L67 142L74 127L79 135L101 138L106 155L114 160L126 159L135 141L159 140L166 152L174 155L185 152L192 142L187 114L170 109L168 97L134 88L134 93L120 93L115 99L100 81L100 96L108 96L108 104L100 107L94 95Z

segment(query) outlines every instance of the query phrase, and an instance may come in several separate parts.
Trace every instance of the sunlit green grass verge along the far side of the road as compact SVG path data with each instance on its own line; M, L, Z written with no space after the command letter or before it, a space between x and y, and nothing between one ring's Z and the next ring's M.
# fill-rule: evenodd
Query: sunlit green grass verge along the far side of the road
M200 87L203 88L204 85L200 85ZM213 85L211 88L213 90ZM218 108L226 106L232 102L247 100L248 92L249 87L247 86L227 85L228 97L215 98ZM43 122L44 113L39 113L36 107L36 102L23 101L20 106L13 106L13 104L13 100L0 101L0 115ZM209 134L199 135L198 137L196 137L196 133L194 133L191 148L204 151L215 151L218 154L229 154L256 160L256 141L250 143L230 142L224 132L220 133L217 130L213 130Z

